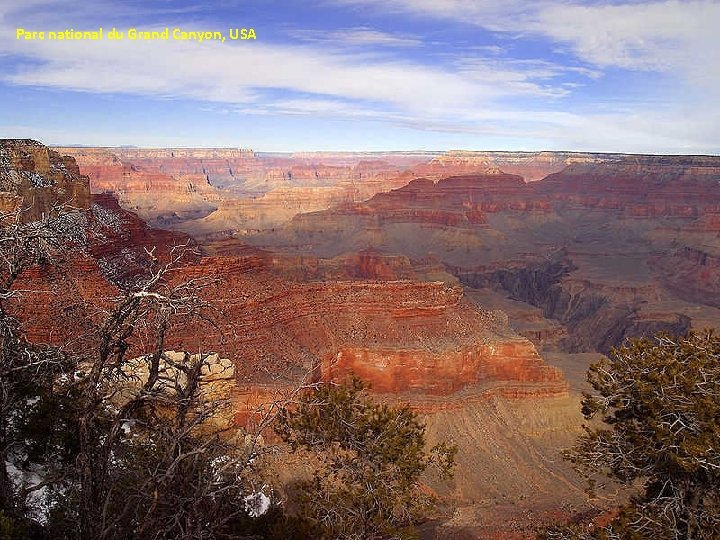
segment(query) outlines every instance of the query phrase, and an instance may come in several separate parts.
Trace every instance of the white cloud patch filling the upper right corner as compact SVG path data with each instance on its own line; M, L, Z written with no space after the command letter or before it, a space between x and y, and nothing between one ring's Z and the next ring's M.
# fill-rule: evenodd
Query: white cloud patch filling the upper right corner
M507 0L337 0L419 17L474 24L564 44L600 67L676 70L697 81L720 79L720 2L667 0L595 3Z

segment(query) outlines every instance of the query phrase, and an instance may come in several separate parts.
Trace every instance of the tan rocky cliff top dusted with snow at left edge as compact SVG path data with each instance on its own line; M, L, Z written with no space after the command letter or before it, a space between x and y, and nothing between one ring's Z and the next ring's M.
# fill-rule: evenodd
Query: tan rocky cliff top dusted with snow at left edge
M36 220L64 209L90 206L88 179L75 162L29 139L0 140L0 209L22 208Z

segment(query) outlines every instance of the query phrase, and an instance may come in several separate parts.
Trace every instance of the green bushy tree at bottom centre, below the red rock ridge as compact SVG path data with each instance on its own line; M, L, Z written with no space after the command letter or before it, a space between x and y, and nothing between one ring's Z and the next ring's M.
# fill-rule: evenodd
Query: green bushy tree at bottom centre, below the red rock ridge
M407 406L375 403L364 384L322 384L285 410L277 433L317 462L296 486L301 515L323 538L413 538L411 525L433 506L420 490L431 464L450 475L456 448L425 448L425 426Z

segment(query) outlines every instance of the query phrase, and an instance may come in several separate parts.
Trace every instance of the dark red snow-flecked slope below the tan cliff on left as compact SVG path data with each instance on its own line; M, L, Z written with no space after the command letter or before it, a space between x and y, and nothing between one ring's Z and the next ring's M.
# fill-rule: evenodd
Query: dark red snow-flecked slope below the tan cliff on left
M13 305L32 342L92 346L92 331L121 287L181 251L187 262L197 257L187 236L148 227L112 196L94 195L92 201L87 210L59 218L58 226L70 234L61 237L66 245L53 264L29 268L15 281L22 292Z

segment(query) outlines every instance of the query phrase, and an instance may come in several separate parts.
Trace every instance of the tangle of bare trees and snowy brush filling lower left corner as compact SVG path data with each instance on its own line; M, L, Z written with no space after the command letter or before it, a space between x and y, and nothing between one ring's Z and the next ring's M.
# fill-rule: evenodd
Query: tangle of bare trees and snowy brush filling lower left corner
M75 217L0 216L0 519L50 538L247 536L269 502L262 434L303 385L258 407L248 431L232 423L233 363L202 343L166 349L181 325L221 332L203 299L214 280L176 272L189 244L148 251L149 271L90 306L97 322L73 347L29 343L8 303L25 301L23 271L82 250Z

